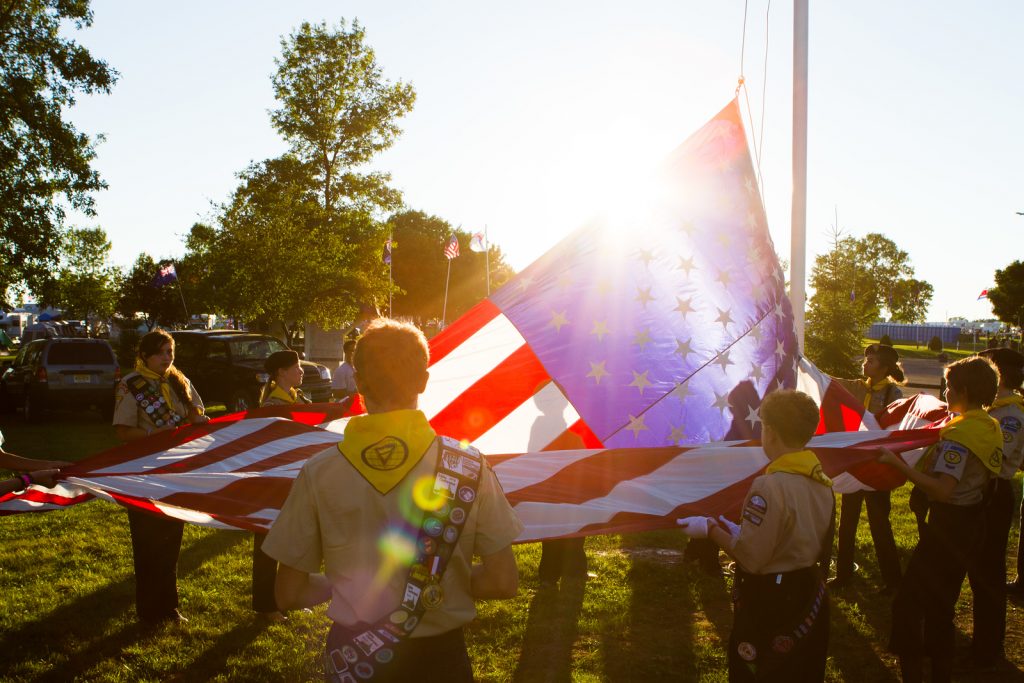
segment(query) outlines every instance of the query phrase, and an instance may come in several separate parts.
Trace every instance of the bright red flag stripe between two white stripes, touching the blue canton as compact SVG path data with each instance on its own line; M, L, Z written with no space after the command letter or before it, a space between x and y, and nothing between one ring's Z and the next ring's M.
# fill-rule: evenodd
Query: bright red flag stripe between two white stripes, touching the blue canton
M537 355L523 345L445 405L430 426L438 434L472 441L550 381Z

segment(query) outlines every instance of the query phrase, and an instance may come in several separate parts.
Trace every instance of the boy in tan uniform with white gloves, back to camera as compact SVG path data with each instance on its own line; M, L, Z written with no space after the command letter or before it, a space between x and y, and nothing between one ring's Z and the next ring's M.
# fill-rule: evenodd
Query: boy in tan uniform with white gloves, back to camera
M687 517L687 536L710 538L736 560L730 681L823 681L828 595L818 563L830 550L831 480L807 442L818 407L780 390L761 403L761 442L770 461L754 480L739 524L724 516Z

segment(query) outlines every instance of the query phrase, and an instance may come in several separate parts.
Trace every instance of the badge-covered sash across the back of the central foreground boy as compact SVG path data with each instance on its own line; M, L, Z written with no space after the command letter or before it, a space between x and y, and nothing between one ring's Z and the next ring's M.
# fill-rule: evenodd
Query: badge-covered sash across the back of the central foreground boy
M476 500L483 457L476 449L447 436L437 437L437 449L433 500L416 501L423 521L401 603L376 624L331 630L325 656L333 681L372 679L380 667L394 658L393 645L412 635L424 612L444 602L441 577Z

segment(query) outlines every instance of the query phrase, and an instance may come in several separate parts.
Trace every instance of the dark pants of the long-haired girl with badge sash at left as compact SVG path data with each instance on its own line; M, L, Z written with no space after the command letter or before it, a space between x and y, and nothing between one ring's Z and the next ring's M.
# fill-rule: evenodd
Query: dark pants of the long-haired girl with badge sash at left
M178 553L184 522L128 509L135 564L135 612L142 622L171 618L178 607Z

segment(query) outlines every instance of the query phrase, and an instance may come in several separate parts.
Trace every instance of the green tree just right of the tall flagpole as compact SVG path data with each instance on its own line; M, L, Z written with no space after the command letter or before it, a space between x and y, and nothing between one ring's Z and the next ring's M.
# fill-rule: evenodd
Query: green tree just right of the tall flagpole
M899 323L923 322L932 286L913 276L909 255L877 232L833 233L833 248L811 268L814 290L807 310L807 355L831 375L859 375L861 339L883 309Z

